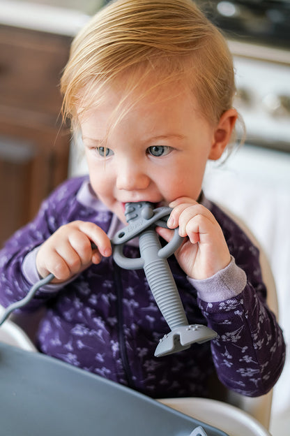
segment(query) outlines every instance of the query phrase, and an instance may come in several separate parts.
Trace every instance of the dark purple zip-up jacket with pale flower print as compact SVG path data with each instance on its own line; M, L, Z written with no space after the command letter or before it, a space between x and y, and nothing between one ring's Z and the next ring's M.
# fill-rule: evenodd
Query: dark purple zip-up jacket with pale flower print
M38 330L40 351L153 398L206 396L214 370L236 392L257 396L269 391L282 371L285 345L265 302L259 252L220 208L205 198L202 203L222 227L231 263L206 280L186 277L174 256L169 265L189 323L213 328L215 340L155 358L158 340L169 327L144 271L122 270L111 257L66 284L44 286L25 307L46 307ZM66 181L1 250L3 306L24 298L39 279L37 247L59 226L77 219L93 221L110 238L120 227L91 191L87 177ZM134 245L126 245L124 253L139 256Z

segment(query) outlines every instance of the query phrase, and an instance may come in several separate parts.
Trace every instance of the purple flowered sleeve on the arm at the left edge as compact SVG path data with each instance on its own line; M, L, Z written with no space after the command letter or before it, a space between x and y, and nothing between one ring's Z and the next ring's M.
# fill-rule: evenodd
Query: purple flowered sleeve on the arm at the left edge
M37 281L32 281L24 273L24 259L28 258L61 224L68 221L75 202L75 191L79 189L80 180L70 180L61 184L43 201L35 219L20 228L6 242L0 251L0 304L7 307L15 301L22 300ZM40 278L40 277L39 277ZM45 304L54 295L51 285L49 292L40 289L36 297L23 308L34 310Z

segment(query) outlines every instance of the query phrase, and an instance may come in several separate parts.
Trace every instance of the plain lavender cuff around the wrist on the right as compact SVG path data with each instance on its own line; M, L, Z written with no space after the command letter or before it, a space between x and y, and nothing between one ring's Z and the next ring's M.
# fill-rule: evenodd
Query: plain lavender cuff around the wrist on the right
M197 289L197 296L201 300L215 303L238 296L245 289L247 276L245 271L236 265L234 257L231 256L229 265L212 277L204 280L188 277L188 281Z

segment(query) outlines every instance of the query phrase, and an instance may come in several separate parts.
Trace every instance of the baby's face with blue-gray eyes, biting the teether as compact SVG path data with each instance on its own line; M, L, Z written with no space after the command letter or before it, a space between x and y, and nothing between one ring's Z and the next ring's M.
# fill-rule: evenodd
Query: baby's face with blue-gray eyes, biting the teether
M201 191L214 127L199 115L192 93L174 87L171 96L172 87L163 86L138 101L107 139L120 101L116 90L108 89L105 103L80 116L91 186L123 222L126 202L168 205L181 196L196 200Z

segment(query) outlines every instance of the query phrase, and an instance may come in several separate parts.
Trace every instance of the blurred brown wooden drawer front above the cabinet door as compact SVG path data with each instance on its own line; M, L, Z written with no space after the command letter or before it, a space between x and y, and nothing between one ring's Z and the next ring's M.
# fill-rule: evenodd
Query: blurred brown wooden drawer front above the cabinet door
M70 38L0 26L0 103L58 114Z

